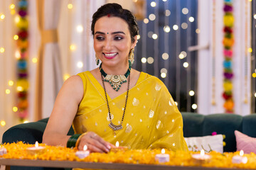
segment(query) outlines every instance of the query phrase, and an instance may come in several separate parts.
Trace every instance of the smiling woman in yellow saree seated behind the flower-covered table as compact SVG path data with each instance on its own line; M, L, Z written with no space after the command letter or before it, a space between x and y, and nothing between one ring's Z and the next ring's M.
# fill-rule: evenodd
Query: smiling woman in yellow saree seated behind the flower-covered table
M139 34L132 13L105 4L91 28L100 67L65 81L43 142L80 150L87 145L90 152L110 152L116 142L129 149L187 150L181 113L164 83L132 69ZM71 124L75 135L68 136Z

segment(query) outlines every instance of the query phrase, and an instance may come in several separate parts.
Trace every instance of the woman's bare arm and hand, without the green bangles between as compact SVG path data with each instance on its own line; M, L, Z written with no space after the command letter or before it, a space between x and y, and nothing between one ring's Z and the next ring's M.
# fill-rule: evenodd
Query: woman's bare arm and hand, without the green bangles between
M63 84L56 98L53 112L50 114L46 130L43 133L43 143L48 145L67 145L68 130L73 123L78 106L83 97L83 84L79 76L70 77ZM109 152L112 146L95 132L87 132L80 141L78 149L82 150L87 145L91 152Z

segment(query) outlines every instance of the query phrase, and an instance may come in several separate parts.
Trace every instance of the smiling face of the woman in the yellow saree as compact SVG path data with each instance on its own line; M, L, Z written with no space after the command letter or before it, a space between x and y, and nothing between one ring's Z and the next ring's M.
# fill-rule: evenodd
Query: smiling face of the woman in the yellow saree
M96 21L93 39L96 56L105 67L126 66L129 51L137 42L136 38L132 43L126 21L114 16L103 16Z

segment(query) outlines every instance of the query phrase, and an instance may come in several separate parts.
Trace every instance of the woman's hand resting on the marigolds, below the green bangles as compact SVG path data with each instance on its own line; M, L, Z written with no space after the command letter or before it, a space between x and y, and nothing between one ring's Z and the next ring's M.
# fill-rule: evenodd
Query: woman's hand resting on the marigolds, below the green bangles
M114 147L109 142L106 142L95 132L87 132L80 139L78 150L82 150L84 146L87 146L87 149L90 152L110 152L111 147Z

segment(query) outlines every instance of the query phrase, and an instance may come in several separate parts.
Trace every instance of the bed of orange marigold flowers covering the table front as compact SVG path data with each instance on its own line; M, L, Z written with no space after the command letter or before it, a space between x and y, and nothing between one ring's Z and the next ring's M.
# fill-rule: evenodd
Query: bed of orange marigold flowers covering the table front
M34 145L23 144L23 142L7 143L1 147L5 147L7 153L0 156L0 159L38 159L48 161L77 161L77 162L102 162L102 163L122 163L122 164L159 164L154 157L161 153L161 149L131 149L127 151L109 152L107 154L91 153L88 157L80 159L75 156L78 149L70 149L68 147L53 147L49 145L39 144L46 147L45 152L41 154L28 154L26 149ZM192 159L192 154L199 152L184 152L171 151L166 149L166 154L169 154L170 161L164 163L169 166L198 166ZM239 152L210 152L211 159L200 166L218 167L218 168L233 168L233 169L256 169L256 154L245 154L248 161L246 164L233 164L232 158L238 155Z

